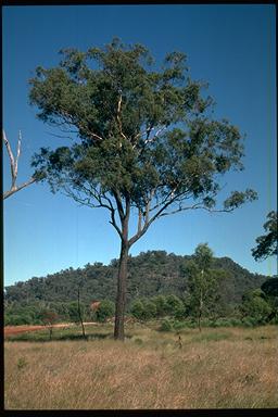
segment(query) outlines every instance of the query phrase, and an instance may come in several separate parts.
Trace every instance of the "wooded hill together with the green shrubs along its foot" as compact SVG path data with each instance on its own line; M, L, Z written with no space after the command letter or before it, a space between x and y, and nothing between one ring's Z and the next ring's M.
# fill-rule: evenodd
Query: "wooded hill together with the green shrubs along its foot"
M127 314L139 320L173 318L194 323L198 308L187 276L191 256L165 251L129 256ZM277 296L269 299L261 289L268 277L251 274L228 257L214 258L213 267L224 274L217 293L206 303L202 319L216 323L229 318L253 324L276 319L271 312ZM84 321L103 321L114 314L116 271L117 260L113 260L109 266L87 264L84 268L68 268L7 287L5 325L41 324L46 311L54 312L59 321L78 323L78 289ZM93 312L90 305L96 300L101 304Z

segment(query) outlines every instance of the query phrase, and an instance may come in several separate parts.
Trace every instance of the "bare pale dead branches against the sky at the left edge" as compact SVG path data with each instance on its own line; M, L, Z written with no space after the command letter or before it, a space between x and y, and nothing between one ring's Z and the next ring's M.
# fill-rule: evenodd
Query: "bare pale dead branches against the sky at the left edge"
M3 130L3 142L5 144L8 155L10 159L10 167L11 167L11 176L12 176L12 184L11 188L9 191L4 191L3 193L3 200L8 199L8 197L11 197L15 192L22 190L25 187L28 187L33 182L36 181L36 178L31 177L29 180L21 184L20 186L16 185L16 179L17 179L17 172L18 172L18 160L21 155L21 148L22 148L22 132L21 130L18 131L18 140L17 140L17 150L16 150L16 156L14 156L11 144L5 136L5 132Z

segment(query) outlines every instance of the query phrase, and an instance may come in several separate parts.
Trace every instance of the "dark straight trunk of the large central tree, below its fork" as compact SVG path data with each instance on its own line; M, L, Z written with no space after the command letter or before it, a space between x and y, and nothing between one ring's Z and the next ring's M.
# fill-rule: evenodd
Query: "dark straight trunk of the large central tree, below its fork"
M127 258L128 258L128 243L127 239L122 240L121 256L117 275L117 298L116 298L116 312L115 312L115 327L114 339L125 340L125 306L126 306L126 279L127 279Z

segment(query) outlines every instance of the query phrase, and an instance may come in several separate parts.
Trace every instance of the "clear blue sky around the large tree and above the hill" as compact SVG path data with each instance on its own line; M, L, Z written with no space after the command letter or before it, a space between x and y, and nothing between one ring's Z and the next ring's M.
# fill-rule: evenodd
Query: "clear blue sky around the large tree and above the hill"
M34 152L60 146L53 127L36 119L28 79L36 66L54 66L61 48L102 47L118 36L147 46L157 63L173 50L188 55L193 79L208 81L216 117L247 135L245 169L224 178L225 192L254 188L258 201L231 214L192 211L154 223L132 248L192 254L207 242L250 271L277 274L276 258L251 255L263 224L277 208L276 56L274 5L106 5L3 8L3 127L13 147L23 135L18 182L31 175ZM10 186L3 159L3 188ZM225 195L224 195L225 198ZM110 263L119 241L104 211L80 207L47 185L33 185L4 201L4 285L87 263Z

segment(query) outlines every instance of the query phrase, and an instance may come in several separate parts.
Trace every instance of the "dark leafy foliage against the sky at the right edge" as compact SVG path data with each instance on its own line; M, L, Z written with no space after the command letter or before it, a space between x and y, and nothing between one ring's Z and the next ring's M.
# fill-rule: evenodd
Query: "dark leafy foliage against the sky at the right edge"
M267 232L264 236L256 238L256 248L253 248L252 255L255 261L266 260L268 256L277 255L278 227L277 212L271 211L267 214L268 220L264 224L264 229Z

